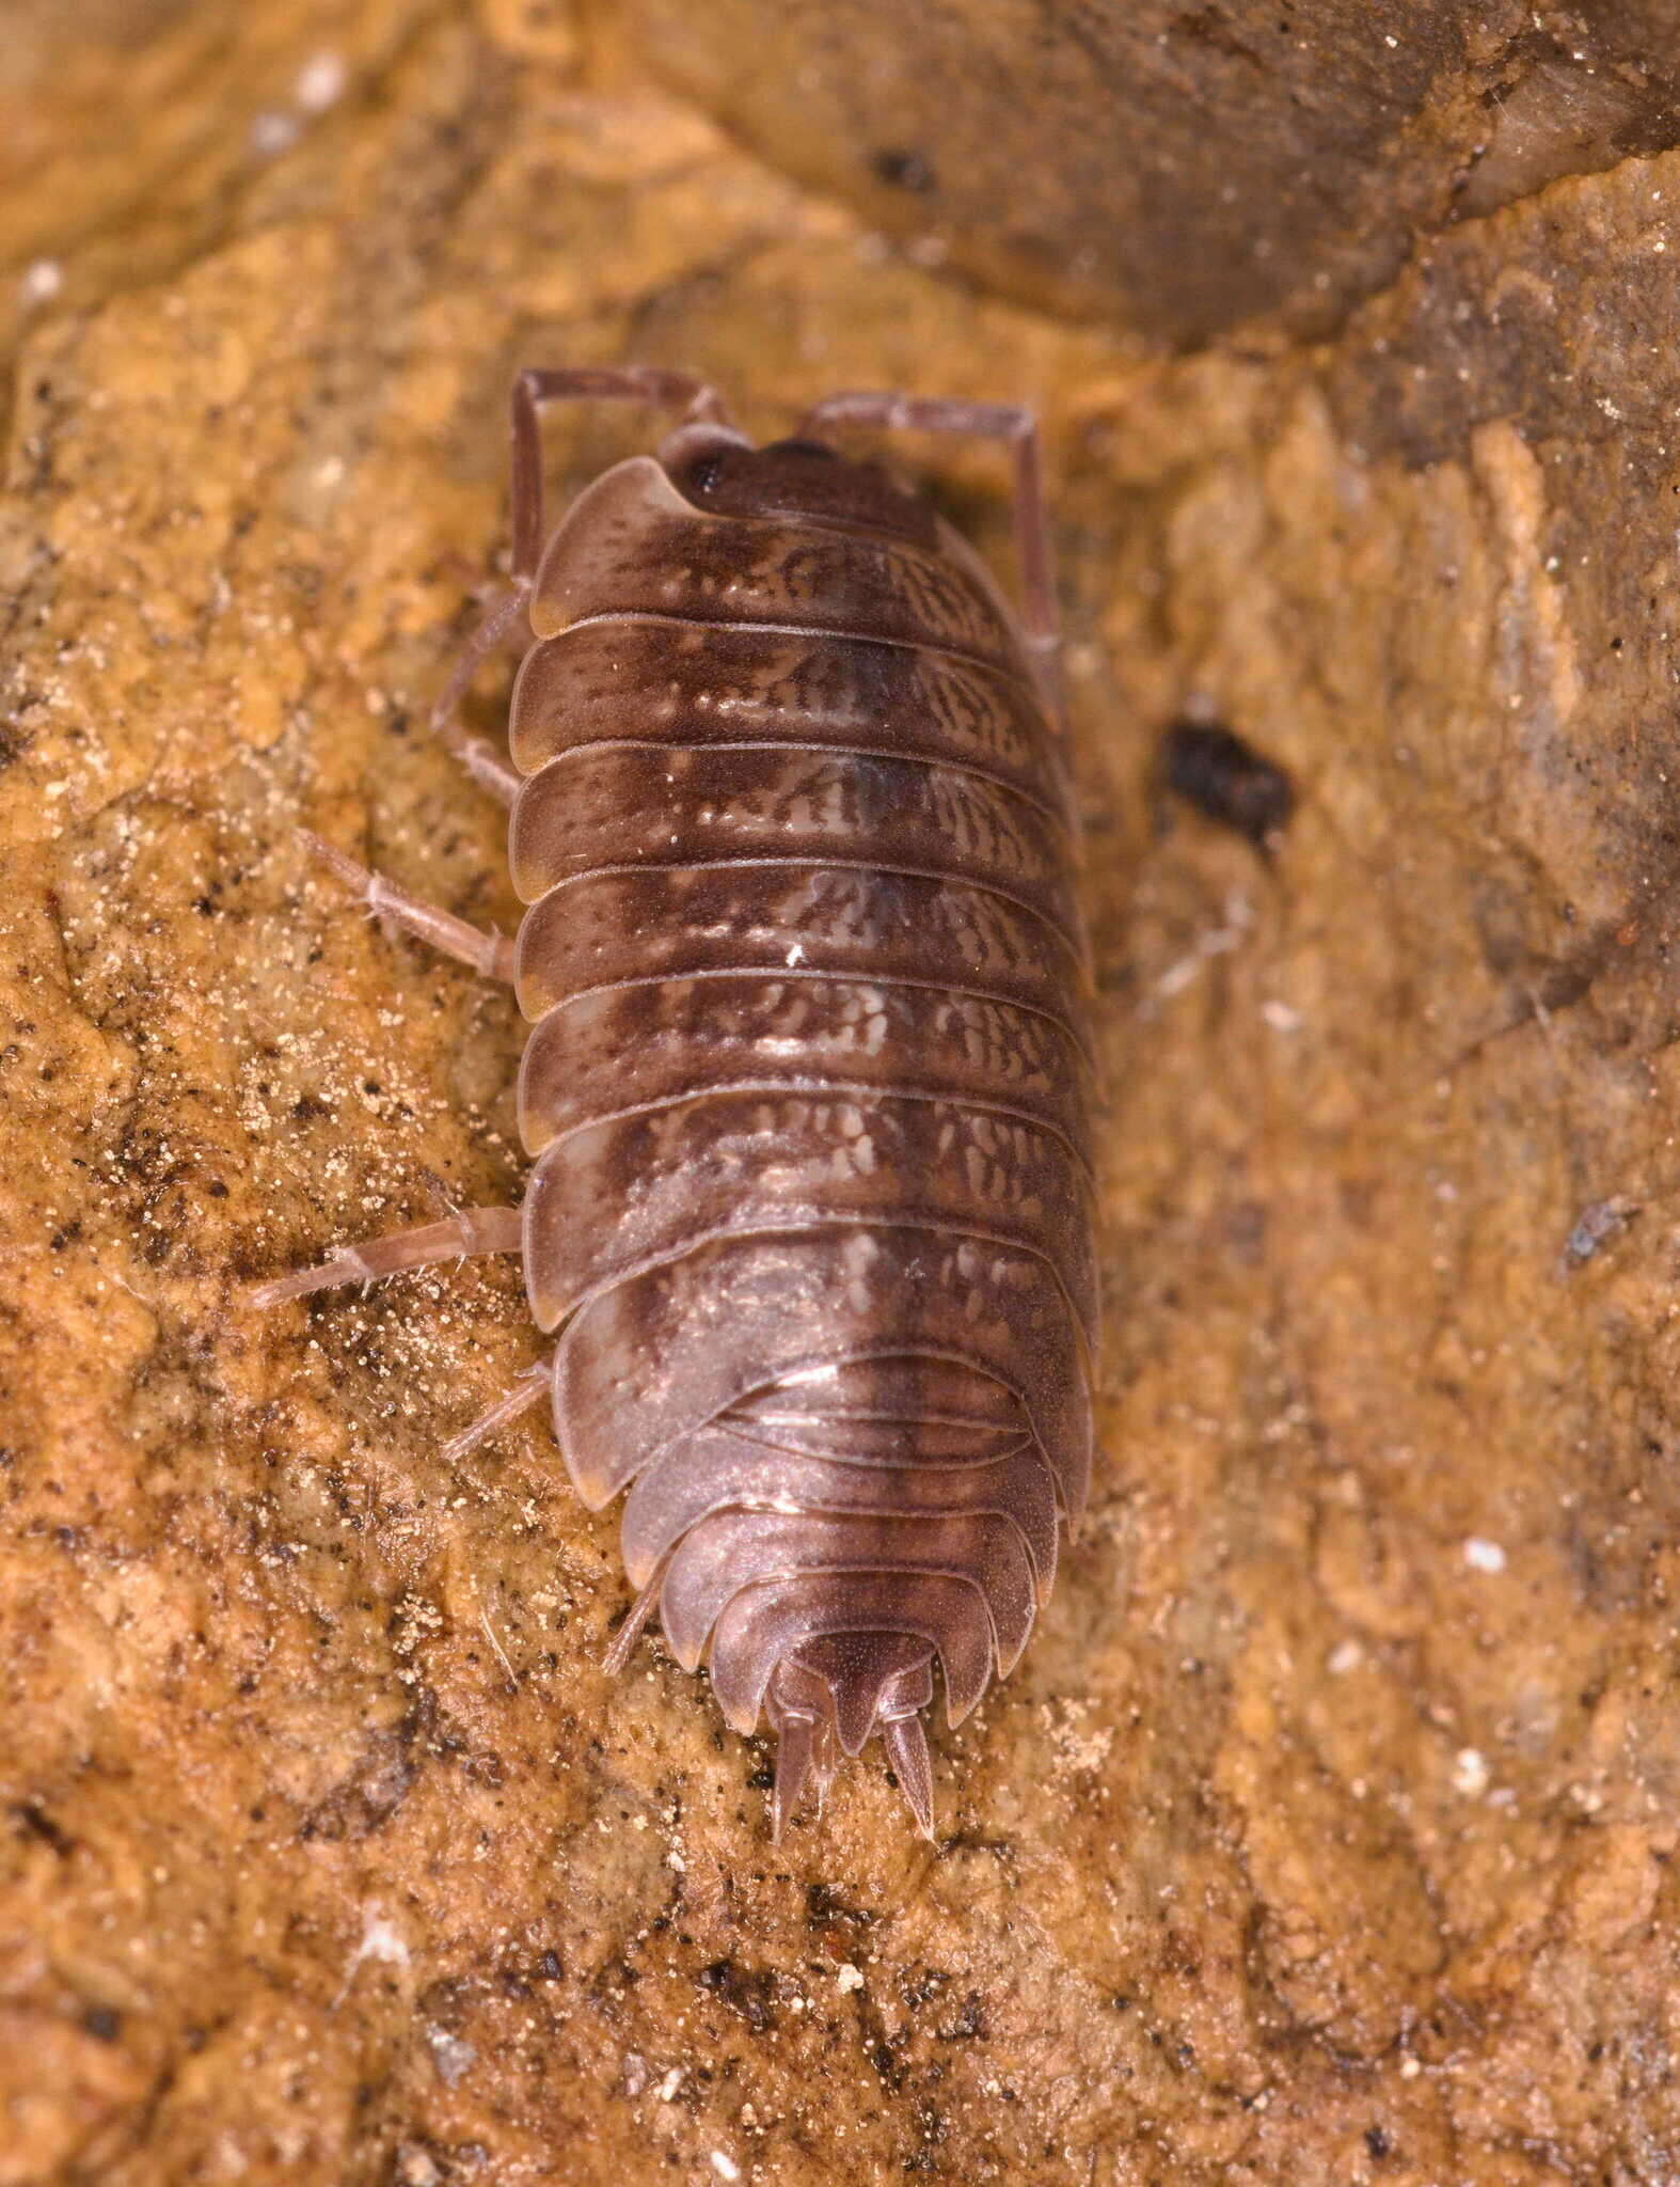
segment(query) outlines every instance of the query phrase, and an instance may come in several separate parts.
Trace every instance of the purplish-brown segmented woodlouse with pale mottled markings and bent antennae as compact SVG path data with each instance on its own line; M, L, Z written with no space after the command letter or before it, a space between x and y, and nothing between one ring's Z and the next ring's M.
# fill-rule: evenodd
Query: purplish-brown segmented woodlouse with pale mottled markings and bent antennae
M682 422L544 536L540 407ZM841 426L998 435L1022 612ZM933 1828L920 1710L1027 1642L1086 1498L1097 1268L1088 960L1027 411L830 396L754 446L690 374L524 372L513 586L435 709L511 807L516 943L339 851L378 912L509 980L533 1030L520 1207L347 1247L293 1299L524 1255L590 1509L636 1610L778 1732L773 1831L872 1732ZM454 722L529 612L509 768Z

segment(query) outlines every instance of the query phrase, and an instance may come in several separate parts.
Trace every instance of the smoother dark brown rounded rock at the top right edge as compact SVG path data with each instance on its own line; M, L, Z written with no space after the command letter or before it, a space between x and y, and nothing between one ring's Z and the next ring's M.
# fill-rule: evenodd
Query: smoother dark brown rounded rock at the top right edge
M924 262L1191 343L1326 332L1418 232L1680 140L1676 0L631 0ZM1254 339L1254 328L1250 328Z

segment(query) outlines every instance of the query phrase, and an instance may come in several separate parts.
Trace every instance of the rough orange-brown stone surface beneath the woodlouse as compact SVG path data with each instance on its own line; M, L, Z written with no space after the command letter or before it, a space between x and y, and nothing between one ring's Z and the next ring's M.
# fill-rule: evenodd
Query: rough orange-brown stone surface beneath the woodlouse
M79 208L37 120L2 199L61 289L0 529L0 2183L1671 2180L1680 157L1459 221L1317 350L1145 363L614 17L100 37L37 96L144 77L131 166ZM767 426L1049 420L1108 1459L937 1848L869 1763L771 1850L703 1686L601 1675L614 1520L546 1430L439 1461L533 1356L511 1271L240 1303L516 1188L505 1002L291 831L511 921L415 724L513 361L623 354ZM631 442L557 424L555 477ZM1271 859L1160 803L1180 715L1291 770Z

